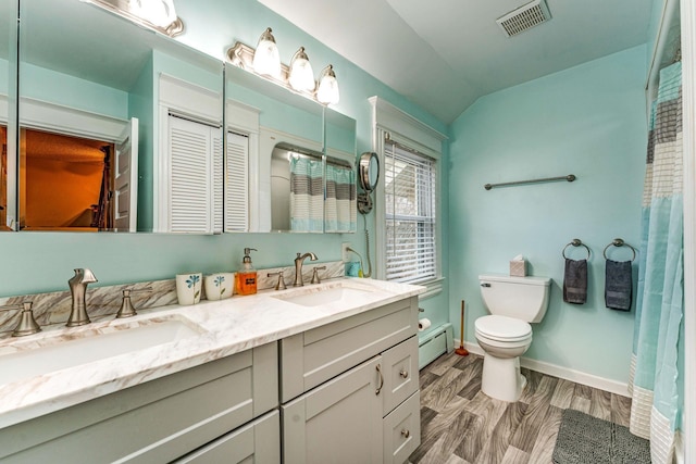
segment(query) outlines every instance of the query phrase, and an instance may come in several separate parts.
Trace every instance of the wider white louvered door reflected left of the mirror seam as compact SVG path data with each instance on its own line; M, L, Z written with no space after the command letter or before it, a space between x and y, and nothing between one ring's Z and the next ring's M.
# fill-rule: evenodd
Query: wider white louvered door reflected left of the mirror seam
M170 230L210 233L213 229L213 152L219 128L169 117Z

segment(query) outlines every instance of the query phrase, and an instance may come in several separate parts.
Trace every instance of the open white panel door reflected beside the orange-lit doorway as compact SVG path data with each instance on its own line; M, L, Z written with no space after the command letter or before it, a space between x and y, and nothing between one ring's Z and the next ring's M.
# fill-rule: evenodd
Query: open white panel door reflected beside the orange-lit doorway
M114 228L136 231L138 221L138 118L123 129L115 153Z

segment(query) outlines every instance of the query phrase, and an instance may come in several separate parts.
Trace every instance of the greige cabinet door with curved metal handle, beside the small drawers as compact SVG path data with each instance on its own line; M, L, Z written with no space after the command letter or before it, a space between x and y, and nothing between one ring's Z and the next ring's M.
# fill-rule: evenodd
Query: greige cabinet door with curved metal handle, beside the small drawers
M283 462L381 463L381 356L281 406Z

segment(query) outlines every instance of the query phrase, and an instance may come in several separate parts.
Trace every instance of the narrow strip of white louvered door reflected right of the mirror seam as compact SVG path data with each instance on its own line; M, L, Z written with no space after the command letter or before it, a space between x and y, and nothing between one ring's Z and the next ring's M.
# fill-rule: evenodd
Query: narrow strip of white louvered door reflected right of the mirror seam
M249 229L249 138L227 133L225 231Z

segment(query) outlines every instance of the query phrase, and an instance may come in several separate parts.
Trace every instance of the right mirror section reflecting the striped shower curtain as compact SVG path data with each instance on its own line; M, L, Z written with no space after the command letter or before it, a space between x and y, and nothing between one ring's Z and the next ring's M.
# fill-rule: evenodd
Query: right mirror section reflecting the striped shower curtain
M227 152L249 160L248 230L355 231L355 120L225 66Z

